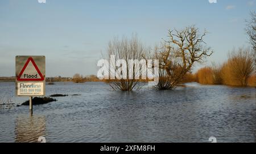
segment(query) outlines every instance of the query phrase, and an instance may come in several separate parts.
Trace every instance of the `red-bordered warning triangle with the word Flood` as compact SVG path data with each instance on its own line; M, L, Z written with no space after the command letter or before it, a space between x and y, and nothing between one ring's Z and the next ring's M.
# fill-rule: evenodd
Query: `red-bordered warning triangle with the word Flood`
M30 62L32 63L32 65L30 65L30 72L32 70L33 72L36 72L36 74L28 74L28 73L25 74L24 73L24 72L27 72L26 69ZM27 62L25 63L22 70L20 71L17 80L18 81L43 81L44 80L43 74L38 69L38 66L36 65L36 63L32 57L29 57L27 59Z

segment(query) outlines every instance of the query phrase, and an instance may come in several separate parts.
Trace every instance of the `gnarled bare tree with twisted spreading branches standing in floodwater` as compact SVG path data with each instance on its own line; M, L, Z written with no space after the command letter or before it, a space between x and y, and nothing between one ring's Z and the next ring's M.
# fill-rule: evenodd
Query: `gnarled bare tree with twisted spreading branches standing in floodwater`
M172 89L181 82L183 76L192 69L195 62L203 62L213 51L203 46L204 36L199 29L191 26L181 31L169 31L169 40L155 49L159 59L159 83L156 89Z

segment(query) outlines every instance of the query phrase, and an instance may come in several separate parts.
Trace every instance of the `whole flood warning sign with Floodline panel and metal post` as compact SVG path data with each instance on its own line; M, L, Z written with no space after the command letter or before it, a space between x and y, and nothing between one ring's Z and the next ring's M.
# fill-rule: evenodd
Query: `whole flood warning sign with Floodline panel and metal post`
M32 114L32 96L46 94L46 57L17 55L15 67L16 96L30 97Z

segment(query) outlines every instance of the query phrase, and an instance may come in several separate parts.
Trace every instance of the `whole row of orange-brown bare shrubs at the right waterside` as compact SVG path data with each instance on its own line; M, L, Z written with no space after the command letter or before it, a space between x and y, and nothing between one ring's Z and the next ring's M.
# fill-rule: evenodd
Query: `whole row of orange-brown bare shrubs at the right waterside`
M229 54L221 66L203 67L196 73L201 84L255 86L254 56L249 48L239 48Z

